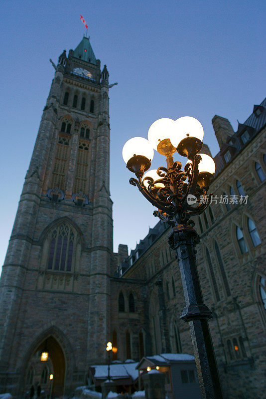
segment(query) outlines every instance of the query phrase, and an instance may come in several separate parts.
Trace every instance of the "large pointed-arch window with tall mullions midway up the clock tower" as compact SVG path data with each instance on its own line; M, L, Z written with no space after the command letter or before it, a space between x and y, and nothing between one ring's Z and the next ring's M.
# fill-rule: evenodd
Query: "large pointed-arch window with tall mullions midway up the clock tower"
M60 224L52 230L48 269L71 271L74 238L74 231L68 224Z

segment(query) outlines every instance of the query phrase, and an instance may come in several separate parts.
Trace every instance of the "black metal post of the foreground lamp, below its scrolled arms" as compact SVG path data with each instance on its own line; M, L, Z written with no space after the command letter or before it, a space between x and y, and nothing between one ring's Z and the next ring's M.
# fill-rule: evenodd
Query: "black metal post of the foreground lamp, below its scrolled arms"
M189 322L199 385L203 399L222 399L208 319L212 312L203 303L196 265L195 245L200 238L190 224L178 224L168 236L169 245L176 251L183 284L186 307L181 319Z

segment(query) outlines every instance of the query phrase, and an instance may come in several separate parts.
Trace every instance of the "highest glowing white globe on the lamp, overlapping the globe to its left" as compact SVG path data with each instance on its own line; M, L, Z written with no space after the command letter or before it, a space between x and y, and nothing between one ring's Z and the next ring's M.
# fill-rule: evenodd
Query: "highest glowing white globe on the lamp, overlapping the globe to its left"
M196 118L192 116L182 116L175 121L175 129L172 130L170 140L172 145L177 147L180 141L187 137L196 137L202 141L203 135L203 127Z

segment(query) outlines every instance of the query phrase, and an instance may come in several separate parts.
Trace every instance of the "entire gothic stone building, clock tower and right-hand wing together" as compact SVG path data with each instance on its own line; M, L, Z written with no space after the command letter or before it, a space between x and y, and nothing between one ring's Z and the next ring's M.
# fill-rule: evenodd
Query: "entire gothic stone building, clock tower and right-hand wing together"
M107 68L87 37L54 68L0 279L0 393L15 397L37 383L70 396L109 340L113 360L193 353L170 227L113 253ZM217 203L195 220L200 280L224 398L263 398L266 100L237 132L219 116L213 126Z

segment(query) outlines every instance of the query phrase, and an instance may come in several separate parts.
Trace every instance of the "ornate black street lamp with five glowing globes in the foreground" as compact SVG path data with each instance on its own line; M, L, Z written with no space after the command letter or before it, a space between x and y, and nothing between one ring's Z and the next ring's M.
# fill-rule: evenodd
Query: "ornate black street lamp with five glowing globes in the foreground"
M203 303L196 266L194 248L200 237L193 228L195 223L189 220L202 213L212 197L207 192L215 164L211 157L200 153L203 134L195 118L158 119L149 128L148 140L136 137L124 145L123 158L137 178L131 178L130 184L156 206L154 216L172 226L168 242L176 251L186 302L181 319L189 322L201 394L206 399L220 399L222 391L208 325L213 315ZM167 167L143 176L151 165L152 147L166 157ZM173 160L176 151L188 159L183 170L181 162Z

